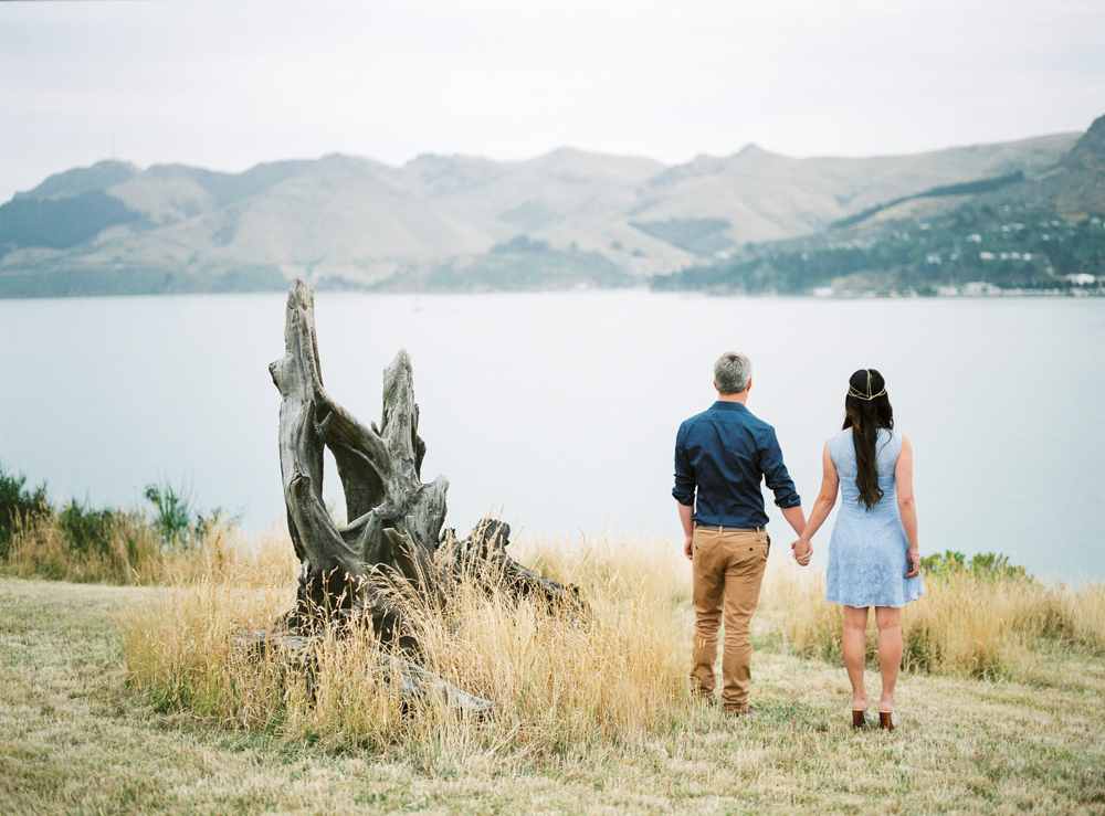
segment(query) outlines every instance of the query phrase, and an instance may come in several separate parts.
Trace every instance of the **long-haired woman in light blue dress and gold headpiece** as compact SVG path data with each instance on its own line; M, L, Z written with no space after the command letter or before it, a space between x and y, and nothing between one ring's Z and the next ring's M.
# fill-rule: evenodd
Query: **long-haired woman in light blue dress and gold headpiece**
M822 454L824 477L810 520L799 539L810 543L836 504L843 504L829 542L825 601L844 607L842 648L852 682L852 725L870 717L863 687L867 607L878 626L883 693L878 724L894 728L894 685L902 665L902 607L924 592L913 500L913 448L894 431L894 410L883 377L874 369L852 374L844 399L844 428ZM798 551L804 551L800 548ZM809 555L801 561L808 562Z

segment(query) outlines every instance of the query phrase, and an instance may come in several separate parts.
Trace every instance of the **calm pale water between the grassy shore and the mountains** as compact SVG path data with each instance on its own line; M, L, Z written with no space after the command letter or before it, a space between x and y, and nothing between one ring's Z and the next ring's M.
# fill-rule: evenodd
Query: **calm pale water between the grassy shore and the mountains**
M281 295L0 301L0 459L57 496L133 504L160 475L246 523L282 518L266 367L283 321ZM923 551L1105 577L1102 300L320 293L317 324L327 388L366 423L410 351L423 476L449 477L462 530L497 505L529 532L674 538L675 431L739 349L807 507L848 377L870 365L914 443ZM828 529L814 543L823 559Z

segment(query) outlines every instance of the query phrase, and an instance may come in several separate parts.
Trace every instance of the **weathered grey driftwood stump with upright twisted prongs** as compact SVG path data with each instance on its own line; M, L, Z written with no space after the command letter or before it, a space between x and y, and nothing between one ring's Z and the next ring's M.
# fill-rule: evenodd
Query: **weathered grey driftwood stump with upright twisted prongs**
M445 688L459 708L491 703L450 687L419 668L419 644L402 626L390 589L401 585L441 604L465 573L488 590L585 610L575 587L525 569L506 554L511 528L484 519L463 541L445 522L449 481L422 481L425 443L418 435L410 357L396 354L383 370L380 426L362 425L323 386L315 337L314 292L301 280L287 296L286 352L269 367L280 390L280 459L287 527L299 559L296 601L280 633L248 633L246 643L301 654L335 623L370 623L383 643L403 653L403 695ZM350 521L338 527L323 501L323 448L337 463ZM436 558L439 548L448 548ZM440 563L439 563L440 562Z

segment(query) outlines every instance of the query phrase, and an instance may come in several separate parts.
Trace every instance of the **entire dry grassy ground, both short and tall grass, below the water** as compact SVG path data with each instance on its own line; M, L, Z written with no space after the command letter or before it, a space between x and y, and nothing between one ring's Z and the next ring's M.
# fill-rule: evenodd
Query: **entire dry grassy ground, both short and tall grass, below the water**
M429 667L496 702L483 722L435 699L403 711L367 637L319 648L313 695L283 660L235 648L292 603L278 529L215 530L129 573L157 585L0 579L0 813L1105 814L1101 585L929 579L905 615L899 728L856 733L817 572L769 564L759 714L734 720L687 693L677 548L514 550L596 614L570 625L471 585L423 610Z

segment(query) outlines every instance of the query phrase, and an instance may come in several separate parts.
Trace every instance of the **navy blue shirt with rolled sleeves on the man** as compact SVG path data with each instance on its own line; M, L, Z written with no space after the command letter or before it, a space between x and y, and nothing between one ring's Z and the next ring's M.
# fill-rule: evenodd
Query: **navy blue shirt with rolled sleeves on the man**
M708 411L680 425L672 496L681 505L695 508L695 521L719 527L764 527L767 513L761 478L775 491L779 507L802 504L782 464L775 428L741 403L718 400Z

